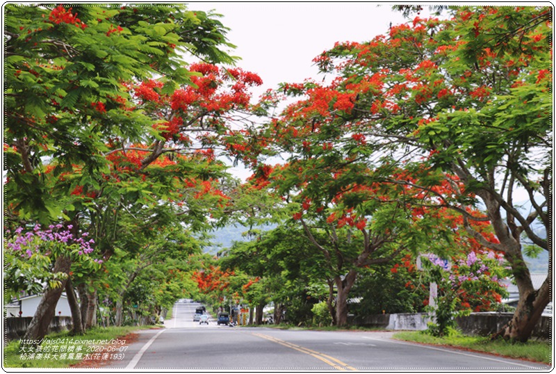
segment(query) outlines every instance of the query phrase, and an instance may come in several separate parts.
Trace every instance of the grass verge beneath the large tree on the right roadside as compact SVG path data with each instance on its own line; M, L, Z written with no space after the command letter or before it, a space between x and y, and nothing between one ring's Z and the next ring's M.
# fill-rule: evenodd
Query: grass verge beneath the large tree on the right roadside
M530 361L552 364L552 346L546 341L528 341L527 343L512 343L503 339L492 341L489 337L482 336L446 336L438 338L423 332L398 332L393 339L412 341L432 345L443 345L453 348L464 348L475 352L486 352L494 355L514 359L527 359Z

